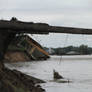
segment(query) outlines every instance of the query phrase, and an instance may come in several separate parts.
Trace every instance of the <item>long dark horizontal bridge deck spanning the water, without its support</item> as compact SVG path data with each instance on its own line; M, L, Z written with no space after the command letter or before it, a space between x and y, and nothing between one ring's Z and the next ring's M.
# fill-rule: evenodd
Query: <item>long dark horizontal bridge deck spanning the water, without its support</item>
M0 31L30 34L70 33L92 35L92 29L50 26L45 23L0 20Z

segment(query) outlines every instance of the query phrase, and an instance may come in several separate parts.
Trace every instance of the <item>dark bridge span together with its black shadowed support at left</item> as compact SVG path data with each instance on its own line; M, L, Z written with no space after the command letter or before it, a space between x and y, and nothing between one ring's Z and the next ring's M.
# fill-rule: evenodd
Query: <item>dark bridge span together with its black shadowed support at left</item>
M70 33L92 35L92 29L50 26L46 23L22 22L18 20L0 20L0 61L3 60L6 49L16 34L49 34Z

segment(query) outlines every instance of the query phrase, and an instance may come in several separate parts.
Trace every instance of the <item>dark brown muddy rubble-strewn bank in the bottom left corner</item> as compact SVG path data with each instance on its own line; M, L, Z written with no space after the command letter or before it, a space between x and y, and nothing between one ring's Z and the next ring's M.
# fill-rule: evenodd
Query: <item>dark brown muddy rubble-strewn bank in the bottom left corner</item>
M0 92L45 92L39 83L45 81L17 70L0 69Z

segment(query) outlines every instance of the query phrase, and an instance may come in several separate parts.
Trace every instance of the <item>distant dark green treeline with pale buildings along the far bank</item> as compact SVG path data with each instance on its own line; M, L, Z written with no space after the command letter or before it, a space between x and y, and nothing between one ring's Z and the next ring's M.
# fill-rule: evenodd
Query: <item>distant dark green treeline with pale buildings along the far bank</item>
M68 47L59 47L59 48L47 48L44 49L52 55L87 55L92 54L92 47L87 45L80 45L79 47L68 46Z

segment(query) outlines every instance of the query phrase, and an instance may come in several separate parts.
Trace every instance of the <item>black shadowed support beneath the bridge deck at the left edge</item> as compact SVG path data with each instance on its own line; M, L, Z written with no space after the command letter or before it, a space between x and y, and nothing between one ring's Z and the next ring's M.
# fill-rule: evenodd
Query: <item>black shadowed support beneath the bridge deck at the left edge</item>
M0 30L1 31L1 30ZM15 37L15 33L9 33L8 31L1 31L0 32L0 69L4 67L3 59L8 48L8 45Z

